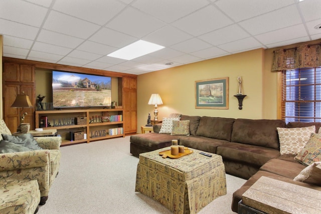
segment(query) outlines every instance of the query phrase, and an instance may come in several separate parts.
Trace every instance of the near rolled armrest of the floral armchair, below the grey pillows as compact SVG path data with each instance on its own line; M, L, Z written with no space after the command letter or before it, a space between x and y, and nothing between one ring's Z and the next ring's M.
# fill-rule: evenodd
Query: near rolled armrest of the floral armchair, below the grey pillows
M50 164L48 149L3 153L0 156L0 172L35 167L46 167Z

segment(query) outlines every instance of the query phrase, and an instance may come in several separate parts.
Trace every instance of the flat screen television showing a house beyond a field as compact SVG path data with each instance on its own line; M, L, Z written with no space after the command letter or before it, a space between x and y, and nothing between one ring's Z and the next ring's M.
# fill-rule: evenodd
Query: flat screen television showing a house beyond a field
M54 108L111 106L111 78L53 71L52 94Z

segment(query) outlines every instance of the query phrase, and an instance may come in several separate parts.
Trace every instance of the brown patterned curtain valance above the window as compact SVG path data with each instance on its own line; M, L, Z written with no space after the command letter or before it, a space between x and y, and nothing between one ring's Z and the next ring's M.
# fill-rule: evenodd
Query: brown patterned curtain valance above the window
M272 71L321 66L321 44L275 50Z

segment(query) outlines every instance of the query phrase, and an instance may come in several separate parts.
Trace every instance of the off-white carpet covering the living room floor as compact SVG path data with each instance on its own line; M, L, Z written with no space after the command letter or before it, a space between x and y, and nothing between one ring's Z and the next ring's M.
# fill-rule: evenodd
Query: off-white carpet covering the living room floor
M138 158L129 152L129 136L61 147L62 159L39 214L172 213L151 198L135 193ZM246 180L226 175L227 194L199 213L235 213L232 194Z

